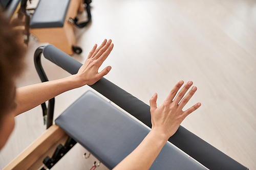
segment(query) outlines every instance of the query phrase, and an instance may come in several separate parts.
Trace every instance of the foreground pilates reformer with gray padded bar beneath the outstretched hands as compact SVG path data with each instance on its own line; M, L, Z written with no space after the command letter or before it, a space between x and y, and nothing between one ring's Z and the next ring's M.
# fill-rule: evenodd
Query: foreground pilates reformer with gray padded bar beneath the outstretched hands
M48 79L41 65L41 54L72 75L82 66L53 45L38 47L34 62L42 82ZM92 91L84 93L52 125L54 99L51 99L48 108L42 104L48 130L4 169L38 169L43 164L50 169L77 142L109 169L129 155L150 132L150 106L105 78L90 87L145 126ZM65 145L59 144L65 141ZM150 169L248 169L182 126L168 141ZM51 153L46 153L48 150Z

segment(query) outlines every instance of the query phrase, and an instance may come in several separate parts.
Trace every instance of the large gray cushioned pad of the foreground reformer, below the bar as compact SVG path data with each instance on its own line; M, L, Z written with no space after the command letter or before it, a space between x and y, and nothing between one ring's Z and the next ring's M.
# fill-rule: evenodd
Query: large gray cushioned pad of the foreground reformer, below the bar
M92 91L84 93L55 123L110 169L150 132ZM150 169L205 168L167 142Z

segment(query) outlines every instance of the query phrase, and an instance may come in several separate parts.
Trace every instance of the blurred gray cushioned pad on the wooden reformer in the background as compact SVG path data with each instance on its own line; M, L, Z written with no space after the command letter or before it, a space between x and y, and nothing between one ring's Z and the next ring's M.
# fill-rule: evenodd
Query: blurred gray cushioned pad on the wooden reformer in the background
M30 20L30 28L63 27L70 0L41 0Z

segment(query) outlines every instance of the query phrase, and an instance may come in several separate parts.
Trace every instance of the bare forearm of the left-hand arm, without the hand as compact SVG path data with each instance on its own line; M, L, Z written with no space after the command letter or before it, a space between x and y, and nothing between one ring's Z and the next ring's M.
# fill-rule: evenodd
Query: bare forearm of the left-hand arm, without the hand
M15 115L24 113L55 96L79 87L75 76L67 78L20 87L16 89Z

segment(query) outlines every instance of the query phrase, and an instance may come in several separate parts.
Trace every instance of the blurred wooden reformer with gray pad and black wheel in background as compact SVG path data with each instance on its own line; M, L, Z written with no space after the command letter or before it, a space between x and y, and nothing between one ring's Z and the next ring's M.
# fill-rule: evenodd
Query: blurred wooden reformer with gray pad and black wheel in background
M30 20L30 33L39 42L48 42L61 51L72 55L82 53L76 46L73 25L83 28L91 20L91 0L44 0L39 1ZM83 7L84 6L84 7ZM86 9L88 20L78 23L77 13Z

